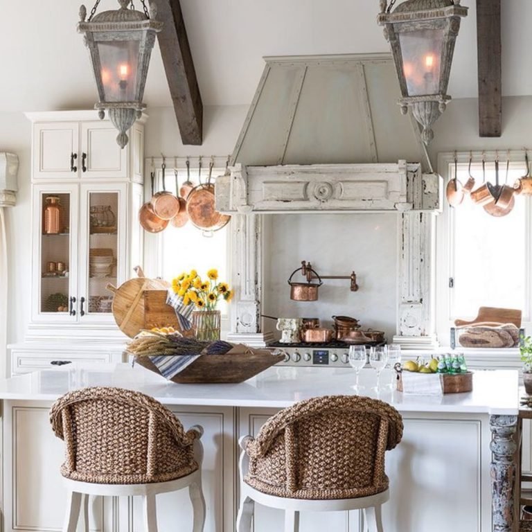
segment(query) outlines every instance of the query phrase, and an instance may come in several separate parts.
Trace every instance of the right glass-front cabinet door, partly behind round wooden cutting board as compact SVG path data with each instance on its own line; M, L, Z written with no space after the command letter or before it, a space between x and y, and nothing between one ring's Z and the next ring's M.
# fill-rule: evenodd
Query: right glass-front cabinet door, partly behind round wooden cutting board
M113 293L125 276L127 184L82 185L80 189L78 295L80 322L112 321Z

